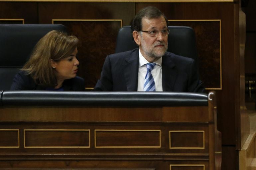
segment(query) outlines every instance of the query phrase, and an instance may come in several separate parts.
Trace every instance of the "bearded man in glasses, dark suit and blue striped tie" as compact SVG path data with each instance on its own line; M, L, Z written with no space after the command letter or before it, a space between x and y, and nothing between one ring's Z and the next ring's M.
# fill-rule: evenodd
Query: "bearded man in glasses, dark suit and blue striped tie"
M132 30L139 48L108 55L94 90L204 92L195 61L167 52L168 20L159 9L140 10Z

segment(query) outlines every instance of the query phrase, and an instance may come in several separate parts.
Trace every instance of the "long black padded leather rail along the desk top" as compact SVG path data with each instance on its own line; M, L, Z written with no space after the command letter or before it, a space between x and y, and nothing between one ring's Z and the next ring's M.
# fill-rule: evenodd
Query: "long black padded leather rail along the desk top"
M204 93L3 91L2 105L207 106Z

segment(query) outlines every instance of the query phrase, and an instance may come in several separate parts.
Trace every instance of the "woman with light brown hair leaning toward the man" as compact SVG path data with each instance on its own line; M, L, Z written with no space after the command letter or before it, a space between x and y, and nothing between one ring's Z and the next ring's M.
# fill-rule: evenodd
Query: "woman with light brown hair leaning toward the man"
M76 76L78 39L65 32L48 32L36 44L29 61L14 77L11 90L83 91L84 79Z

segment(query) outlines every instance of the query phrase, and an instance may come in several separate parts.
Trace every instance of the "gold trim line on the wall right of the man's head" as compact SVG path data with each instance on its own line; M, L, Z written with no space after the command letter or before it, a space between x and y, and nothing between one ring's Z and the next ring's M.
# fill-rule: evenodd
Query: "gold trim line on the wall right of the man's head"
M168 20L168 21L173 21L173 22L191 22L191 21L194 21L194 22L212 22L212 21L217 21L219 22L219 49L220 49L220 88L205 88L206 90L221 90L222 89L222 62L221 62L221 58L222 58L222 55L221 55L221 20Z

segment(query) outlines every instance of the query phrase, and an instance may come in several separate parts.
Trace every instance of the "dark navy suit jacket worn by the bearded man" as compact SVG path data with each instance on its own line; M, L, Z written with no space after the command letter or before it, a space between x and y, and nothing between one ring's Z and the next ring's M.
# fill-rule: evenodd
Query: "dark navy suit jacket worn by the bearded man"
M139 49L108 55L95 91L137 91ZM167 52L162 61L163 91L204 92L191 58Z

